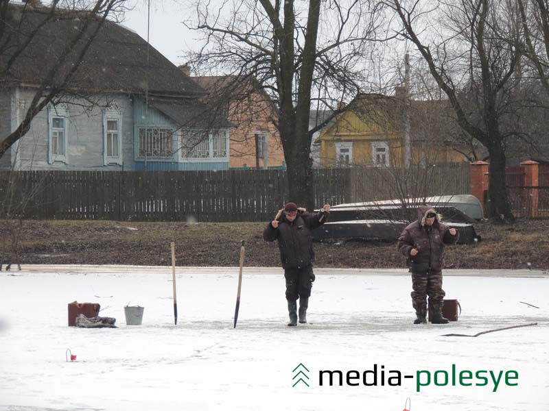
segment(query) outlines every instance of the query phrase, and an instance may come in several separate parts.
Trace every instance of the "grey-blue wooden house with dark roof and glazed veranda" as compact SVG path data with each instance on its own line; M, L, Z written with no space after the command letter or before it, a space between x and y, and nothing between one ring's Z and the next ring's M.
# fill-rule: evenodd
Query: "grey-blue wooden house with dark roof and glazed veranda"
M47 7L40 6L21 21L21 7L10 5L11 26L27 25L21 33L36 29L38 35L0 77L0 141L21 124L73 29L67 10L64 18L44 21ZM226 113L210 110L204 96L138 34L106 21L78 75L34 117L30 131L0 158L0 169L229 169L231 123Z

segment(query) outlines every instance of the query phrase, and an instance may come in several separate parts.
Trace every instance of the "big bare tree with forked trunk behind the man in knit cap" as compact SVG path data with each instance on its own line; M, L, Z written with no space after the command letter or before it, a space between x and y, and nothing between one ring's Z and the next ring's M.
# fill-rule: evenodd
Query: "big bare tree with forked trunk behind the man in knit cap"
M197 71L253 77L273 104L292 201L312 208L312 107L338 113L340 102L360 90L384 15L375 0L244 0L209 9L197 2L205 33L202 51L189 55ZM216 4L217 6L217 4Z

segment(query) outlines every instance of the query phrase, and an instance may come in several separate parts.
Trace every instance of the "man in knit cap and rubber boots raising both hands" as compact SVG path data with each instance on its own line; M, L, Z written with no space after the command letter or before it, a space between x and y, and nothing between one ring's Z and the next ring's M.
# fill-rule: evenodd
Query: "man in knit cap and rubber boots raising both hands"
M327 221L329 210L329 204L325 204L320 212L312 213L305 211L305 208L297 208L295 203L288 203L264 229L264 240L278 240L279 243L290 326L297 325L298 298L299 322L307 323L307 307L314 282L311 231Z

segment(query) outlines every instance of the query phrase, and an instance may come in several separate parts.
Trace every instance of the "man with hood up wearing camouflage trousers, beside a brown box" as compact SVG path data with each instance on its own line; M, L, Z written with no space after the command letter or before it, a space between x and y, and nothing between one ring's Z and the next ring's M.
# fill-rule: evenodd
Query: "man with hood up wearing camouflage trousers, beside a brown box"
M445 244L454 244L459 233L441 223L441 216L432 206L419 206L417 221L404 229L399 237L398 250L408 258L412 273L412 306L417 319L414 324L426 323L427 296L432 307L433 324L447 324L442 315L446 293L442 289L442 265Z

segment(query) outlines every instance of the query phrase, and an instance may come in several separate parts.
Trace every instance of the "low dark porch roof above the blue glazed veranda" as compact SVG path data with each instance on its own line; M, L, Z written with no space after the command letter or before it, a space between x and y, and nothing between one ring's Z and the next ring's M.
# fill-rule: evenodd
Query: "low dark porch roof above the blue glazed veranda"
M218 112L209 110L205 104L196 99L152 97L148 100L149 105L183 127L231 127L232 124Z

